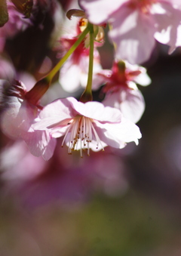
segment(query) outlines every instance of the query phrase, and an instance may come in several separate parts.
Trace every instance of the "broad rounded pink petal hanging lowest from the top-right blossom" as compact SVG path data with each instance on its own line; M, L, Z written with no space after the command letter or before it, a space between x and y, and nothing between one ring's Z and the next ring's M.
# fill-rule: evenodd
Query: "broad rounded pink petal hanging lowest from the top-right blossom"
M116 44L116 57L130 63L143 63L148 60L155 47L155 23L151 16L126 6L121 14L115 14L110 38Z

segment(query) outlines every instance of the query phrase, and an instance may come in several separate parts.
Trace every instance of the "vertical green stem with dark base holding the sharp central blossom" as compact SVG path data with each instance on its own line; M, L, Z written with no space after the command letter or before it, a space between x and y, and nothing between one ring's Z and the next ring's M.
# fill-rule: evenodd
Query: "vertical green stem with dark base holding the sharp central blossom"
M88 78L87 78L87 86L81 94L80 101L87 102L92 100L92 79L93 79L93 64L94 64L94 26L92 24L88 24L90 34L90 50L89 50L89 67L88 67Z

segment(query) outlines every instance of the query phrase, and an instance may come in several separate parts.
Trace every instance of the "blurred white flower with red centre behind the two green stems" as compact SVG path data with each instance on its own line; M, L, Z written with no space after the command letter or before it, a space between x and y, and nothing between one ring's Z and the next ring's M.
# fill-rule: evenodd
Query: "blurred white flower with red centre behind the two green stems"
M62 54L66 54L66 51L72 47L72 45L77 41L78 35L87 26L85 19L79 20L78 26L75 29L74 34L63 35L60 39L60 54L57 57L62 57ZM86 37L78 48L72 53L63 67L60 69L60 85L62 85L63 90L68 92L77 91L79 88L85 88L87 85L87 72L89 65L89 38ZM100 79L95 74L100 72L102 66L100 65L100 54L96 49L96 46L103 45L103 42L94 42L94 69L93 69L93 90L97 90L100 85Z

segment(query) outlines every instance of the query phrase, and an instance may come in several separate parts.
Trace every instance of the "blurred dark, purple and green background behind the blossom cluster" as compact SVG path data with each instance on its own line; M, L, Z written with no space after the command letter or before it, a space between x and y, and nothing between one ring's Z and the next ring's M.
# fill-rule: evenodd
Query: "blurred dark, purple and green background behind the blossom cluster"
M75 2L41 0L37 6L33 26L6 37L0 79L17 76L31 84L57 63L52 49ZM107 39L99 51L103 68L110 68ZM181 255L181 50L167 51L156 45L144 63L152 84L140 87L146 111L137 123L143 134L138 147L106 148L81 159L68 156L59 139L44 162L23 141L1 133L1 256ZM44 104L69 96L57 79ZM94 93L95 100L102 96Z

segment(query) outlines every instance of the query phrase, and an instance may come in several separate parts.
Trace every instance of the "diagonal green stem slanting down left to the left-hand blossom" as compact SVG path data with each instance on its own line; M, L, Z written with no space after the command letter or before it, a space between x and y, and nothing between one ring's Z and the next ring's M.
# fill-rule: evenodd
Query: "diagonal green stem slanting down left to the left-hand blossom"
M75 42L75 44L72 45L71 48L69 48L69 51L67 51L67 53L63 56L63 58L59 61L59 63L57 63L57 65L54 66L54 69L52 69L51 72L48 73L48 75L46 76L46 79L48 79L49 82L51 82L55 74L59 71L60 67L63 66L63 63L66 62L68 57L75 51L78 45L80 45L81 41L84 39L85 35L87 35L88 32L89 32L89 28L87 26L86 29L84 29L84 31L78 37L78 40Z

